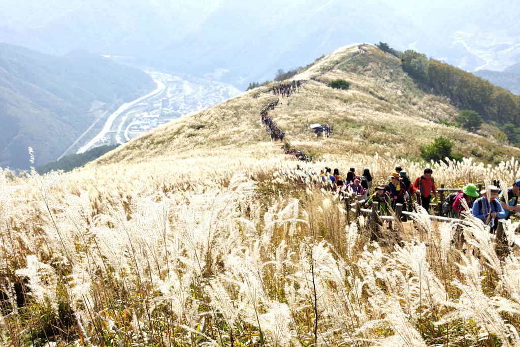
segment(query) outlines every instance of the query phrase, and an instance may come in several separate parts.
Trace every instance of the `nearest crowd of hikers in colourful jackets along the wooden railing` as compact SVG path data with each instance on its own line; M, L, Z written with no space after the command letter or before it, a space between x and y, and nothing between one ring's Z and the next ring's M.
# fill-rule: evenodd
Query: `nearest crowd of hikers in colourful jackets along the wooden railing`
M350 168L346 177L340 175L339 169L332 171L327 166L320 172L321 181L327 183L331 189L344 197L353 193L357 200L365 200L365 206L372 208L373 202L378 202L381 215L389 216L391 211L402 205L402 211L407 211L407 202L414 201L430 213L432 200L437 200L437 188L433 177L433 170L424 169L423 174L410 181L409 175L396 166L395 171L388 177L388 183L378 184L372 191L372 176L369 169L363 170L361 177L356 175L355 168ZM460 191L451 193L443 203L444 214L454 219L461 219L462 212L467 211L481 220L491 230L498 227L499 219L510 219L511 215L520 215L520 179L508 189L502 191L496 185L489 185L486 189L477 191L477 187L470 183ZM513 211L513 213L511 213ZM406 215L401 216L406 221Z

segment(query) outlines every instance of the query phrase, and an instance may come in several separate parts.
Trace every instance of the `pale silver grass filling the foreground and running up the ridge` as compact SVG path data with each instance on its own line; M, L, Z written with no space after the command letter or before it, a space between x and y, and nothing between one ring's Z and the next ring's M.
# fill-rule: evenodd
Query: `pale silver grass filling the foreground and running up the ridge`
M356 83L399 105L397 87L374 79ZM308 82L272 111L293 146L317 153L313 163L270 142L258 111L273 96L253 98L257 89L69 174L2 169L0 346L520 346L517 251L498 258L479 220L432 222L420 207L379 230L399 241L371 241L366 217L347 223L319 176L324 166L370 168L376 184L397 164L411 178L429 165L438 185L505 187L520 177L518 150L496 165L414 160L417 143L440 133L475 150L497 142L428 121L452 117L443 100L421 97L416 115L412 104L372 103L361 87L324 88ZM347 94L358 101L335 98ZM410 133L392 144L363 142L359 128L329 140L306 130L345 114L367 127L397 117ZM407 130L419 126L428 132ZM509 240L518 224L505 223Z

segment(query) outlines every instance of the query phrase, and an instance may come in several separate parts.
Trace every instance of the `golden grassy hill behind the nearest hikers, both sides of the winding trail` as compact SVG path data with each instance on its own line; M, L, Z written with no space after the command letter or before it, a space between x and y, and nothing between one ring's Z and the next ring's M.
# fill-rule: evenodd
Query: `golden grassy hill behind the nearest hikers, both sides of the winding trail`
M497 143L492 136L467 133L440 124L453 122L459 110L441 96L424 92L400 66L400 60L367 45L369 54L350 59L359 50L350 45L319 59L295 79L304 82L299 91L285 100L270 117L285 132L285 140L315 160L315 171L323 166L346 172L370 168L376 179L387 179L401 164L410 176L432 166L438 182L477 182L483 177L505 177L496 163L520 155L520 150ZM337 67L339 69L336 69ZM332 70L329 71L329 69ZM325 72L323 72L325 71ZM350 89L340 91L310 81L342 78ZM189 197L190 191L227 185L233 174L243 171L259 182L299 179L296 165L307 167L294 156L285 155L282 143L272 143L260 122L259 111L272 93L259 87L191 117L180 118L135 138L69 175L71 186L83 187L95 199L111 199L113 194L131 199L143 185L175 191ZM317 138L308 124L328 123L334 134ZM454 152L476 159L447 168L424 163L419 147L444 136L455 144ZM471 181L474 180L474 181ZM100 200L100 202L101 202Z

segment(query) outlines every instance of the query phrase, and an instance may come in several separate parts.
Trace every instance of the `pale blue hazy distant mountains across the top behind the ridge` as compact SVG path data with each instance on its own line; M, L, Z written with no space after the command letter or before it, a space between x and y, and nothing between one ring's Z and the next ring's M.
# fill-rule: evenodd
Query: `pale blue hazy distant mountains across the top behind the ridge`
M353 42L413 48L468 71L520 61L506 1L4 0L0 41L51 54L81 47L244 88Z

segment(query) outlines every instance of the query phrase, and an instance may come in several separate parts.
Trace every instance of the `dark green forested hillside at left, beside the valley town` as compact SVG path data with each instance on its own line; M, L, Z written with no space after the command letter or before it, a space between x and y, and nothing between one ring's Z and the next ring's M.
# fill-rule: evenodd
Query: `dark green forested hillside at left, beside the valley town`
M28 168L28 147L36 164L56 160L101 111L153 87L146 73L84 50L56 57L0 44L0 165Z

